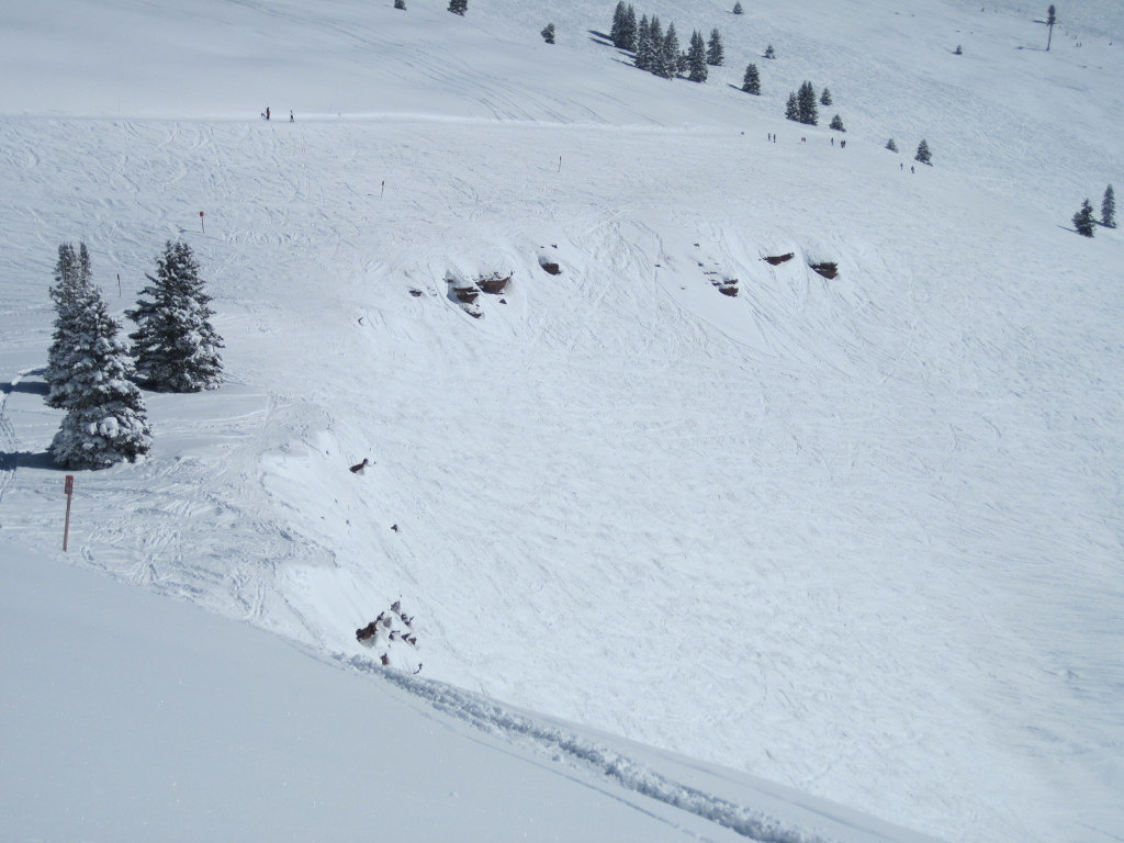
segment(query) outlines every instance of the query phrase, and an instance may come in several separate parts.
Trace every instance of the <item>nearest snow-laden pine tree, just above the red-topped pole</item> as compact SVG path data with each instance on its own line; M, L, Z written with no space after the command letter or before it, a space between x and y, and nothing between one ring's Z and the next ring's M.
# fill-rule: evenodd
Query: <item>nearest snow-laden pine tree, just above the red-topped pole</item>
M67 411L51 455L66 469L133 462L152 447L144 398L132 381L133 361L101 291L91 283L79 298Z

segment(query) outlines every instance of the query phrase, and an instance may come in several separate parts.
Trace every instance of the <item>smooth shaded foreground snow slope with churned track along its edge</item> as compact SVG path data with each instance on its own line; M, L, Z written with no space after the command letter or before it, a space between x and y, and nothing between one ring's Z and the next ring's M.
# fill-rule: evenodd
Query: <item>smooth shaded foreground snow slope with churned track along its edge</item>
M0 546L4 840L932 843Z

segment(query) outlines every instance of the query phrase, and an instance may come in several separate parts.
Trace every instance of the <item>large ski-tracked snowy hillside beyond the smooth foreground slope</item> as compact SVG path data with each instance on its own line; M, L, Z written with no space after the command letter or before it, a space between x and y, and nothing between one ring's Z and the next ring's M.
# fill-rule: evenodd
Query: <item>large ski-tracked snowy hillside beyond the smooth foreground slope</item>
M120 314L187 238L228 383L146 393L70 561L924 834L1118 840L1124 244L1070 218L1124 11L636 4L720 30L697 85L614 4L4 7L6 546L60 543L57 245ZM356 642L396 599L418 649Z

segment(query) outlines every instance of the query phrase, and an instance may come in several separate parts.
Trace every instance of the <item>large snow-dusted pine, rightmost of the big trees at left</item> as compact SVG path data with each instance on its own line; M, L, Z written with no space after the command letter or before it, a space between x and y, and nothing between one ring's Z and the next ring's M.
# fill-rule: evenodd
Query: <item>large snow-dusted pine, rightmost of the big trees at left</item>
M137 324L129 334L139 383L160 392L198 392L223 383L223 338L210 324L210 296L199 278L199 263L182 241L164 246L156 278L140 292Z

